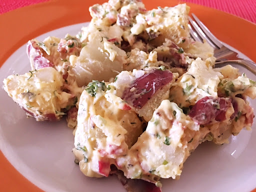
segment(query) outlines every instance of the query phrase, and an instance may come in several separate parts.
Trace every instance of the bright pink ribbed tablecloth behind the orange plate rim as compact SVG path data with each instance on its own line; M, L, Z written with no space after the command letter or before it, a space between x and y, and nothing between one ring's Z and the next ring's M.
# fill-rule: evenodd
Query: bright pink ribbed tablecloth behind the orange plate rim
M0 14L48 0L0 0ZM144 0L146 1L146 0ZM256 0L181 0L216 8L256 23Z

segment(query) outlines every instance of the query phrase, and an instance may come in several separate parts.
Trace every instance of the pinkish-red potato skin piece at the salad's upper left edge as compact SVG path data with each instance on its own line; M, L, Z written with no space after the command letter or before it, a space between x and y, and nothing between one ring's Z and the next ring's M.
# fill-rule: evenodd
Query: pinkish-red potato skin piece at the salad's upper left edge
M29 40L26 46L27 56L30 61L33 61L33 67L35 69L43 67L53 67L53 63L50 62L47 58L42 56L42 48L34 40Z

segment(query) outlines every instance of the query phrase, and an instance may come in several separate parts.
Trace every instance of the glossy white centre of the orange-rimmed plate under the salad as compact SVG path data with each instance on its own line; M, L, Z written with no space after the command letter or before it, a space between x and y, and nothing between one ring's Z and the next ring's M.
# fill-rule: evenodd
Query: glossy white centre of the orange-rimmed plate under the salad
M84 23L47 32L43 40L66 33L75 35ZM0 68L0 83L13 73L29 70L25 45L18 48ZM255 76L240 68L248 77ZM84 176L71 152L72 130L65 120L36 122L0 89L0 149L10 163L28 180L45 191L125 191L115 176ZM256 101L251 101L256 108ZM242 130L229 144L202 143L184 163L179 180L162 179L162 191L249 191L256 186L256 130ZM242 183L242 184L240 184ZM254 186L254 187L253 187Z

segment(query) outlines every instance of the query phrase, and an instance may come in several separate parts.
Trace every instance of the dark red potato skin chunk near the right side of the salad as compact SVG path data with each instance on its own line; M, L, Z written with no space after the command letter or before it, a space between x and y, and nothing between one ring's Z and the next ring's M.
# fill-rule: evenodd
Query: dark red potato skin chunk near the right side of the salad
M231 105L229 98L205 96L192 106L189 116L198 124L222 121L226 119L226 110Z

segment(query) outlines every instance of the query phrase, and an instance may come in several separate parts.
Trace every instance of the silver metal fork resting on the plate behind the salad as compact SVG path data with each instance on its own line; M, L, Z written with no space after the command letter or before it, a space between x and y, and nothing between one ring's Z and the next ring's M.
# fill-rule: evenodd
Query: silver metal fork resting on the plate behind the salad
M188 17L190 22L190 24L188 24L190 35L196 41L203 42L203 39L205 39L214 48L214 56L216 57L215 64L235 62L246 67L256 75L256 64L254 62L239 57L237 52L229 49L223 42L218 40L197 16L193 13L191 15L193 19Z

